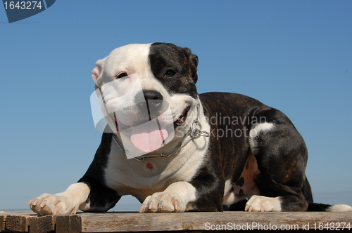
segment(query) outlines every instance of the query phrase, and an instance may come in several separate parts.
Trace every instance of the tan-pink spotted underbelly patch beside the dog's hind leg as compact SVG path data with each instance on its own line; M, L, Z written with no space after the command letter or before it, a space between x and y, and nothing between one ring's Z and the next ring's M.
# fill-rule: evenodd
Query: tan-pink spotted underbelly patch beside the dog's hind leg
M254 176L258 173L256 157L249 154L239 180L234 183L232 183L232 180L226 180L222 204L230 205L247 197L258 195L259 189L254 183Z

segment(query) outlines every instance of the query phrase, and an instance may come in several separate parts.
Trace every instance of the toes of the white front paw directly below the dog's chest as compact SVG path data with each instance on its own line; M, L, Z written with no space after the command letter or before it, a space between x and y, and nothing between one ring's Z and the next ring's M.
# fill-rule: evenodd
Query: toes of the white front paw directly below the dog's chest
M156 212L184 212L186 204L175 192L156 192L146 197L139 213Z

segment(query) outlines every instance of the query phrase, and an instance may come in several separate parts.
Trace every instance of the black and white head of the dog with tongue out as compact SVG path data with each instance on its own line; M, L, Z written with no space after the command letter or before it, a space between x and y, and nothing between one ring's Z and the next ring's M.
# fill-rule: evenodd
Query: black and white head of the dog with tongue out
M165 43L122 46L96 62L102 111L125 148L146 154L189 129L199 101L197 65L189 48Z

